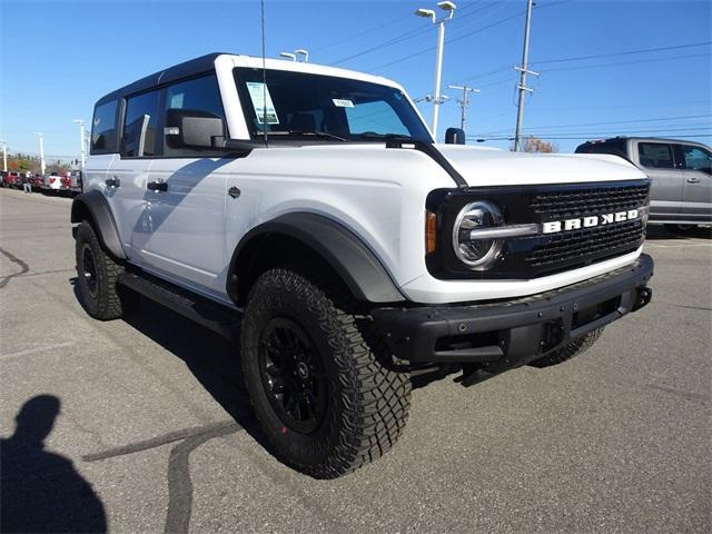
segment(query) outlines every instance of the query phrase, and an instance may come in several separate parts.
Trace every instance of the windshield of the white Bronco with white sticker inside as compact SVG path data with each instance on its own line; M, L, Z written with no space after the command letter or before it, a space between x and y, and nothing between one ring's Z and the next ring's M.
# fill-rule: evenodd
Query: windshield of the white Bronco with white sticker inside
M247 128L253 138L265 129L273 139L373 141L431 135L396 88L333 76L235 69Z

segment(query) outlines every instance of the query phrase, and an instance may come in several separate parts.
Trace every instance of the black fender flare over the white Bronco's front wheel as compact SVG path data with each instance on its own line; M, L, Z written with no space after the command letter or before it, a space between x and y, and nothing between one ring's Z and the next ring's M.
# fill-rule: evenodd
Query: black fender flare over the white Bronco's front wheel
M268 235L284 235L312 248L344 280L354 297L369 303L405 300L397 285L376 255L352 230L327 217L309 212L291 212L249 230L240 239L229 265L227 293L237 299L235 275L241 261L249 261L240 253L254 239Z

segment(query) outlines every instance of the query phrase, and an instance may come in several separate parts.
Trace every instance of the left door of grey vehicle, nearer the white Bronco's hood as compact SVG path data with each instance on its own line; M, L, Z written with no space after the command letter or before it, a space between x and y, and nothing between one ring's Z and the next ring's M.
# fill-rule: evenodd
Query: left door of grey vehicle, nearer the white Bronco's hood
M683 177L675 166L673 145L634 141L640 167L650 177L651 220L676 220L682 205Z

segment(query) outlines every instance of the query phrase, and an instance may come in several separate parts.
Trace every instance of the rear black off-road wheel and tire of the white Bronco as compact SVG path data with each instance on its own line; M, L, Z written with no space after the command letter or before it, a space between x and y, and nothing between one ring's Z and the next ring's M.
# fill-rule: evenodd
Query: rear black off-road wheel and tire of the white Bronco
M123 266L109 256L93 227L82 221L76 239L77 288L79 301L95 319L111 320L127 316L138 295L117 283Z

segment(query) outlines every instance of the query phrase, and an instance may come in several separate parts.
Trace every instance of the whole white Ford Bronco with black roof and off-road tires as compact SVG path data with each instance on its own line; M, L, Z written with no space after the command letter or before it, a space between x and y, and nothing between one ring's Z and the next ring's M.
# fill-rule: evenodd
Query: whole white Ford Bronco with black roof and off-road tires
M71 209L80 301L235 335L276 454L353 471L403 433L412 377L557 364L651 298L639 169L462 137L312 63L215 53L128 85L96 105Z

